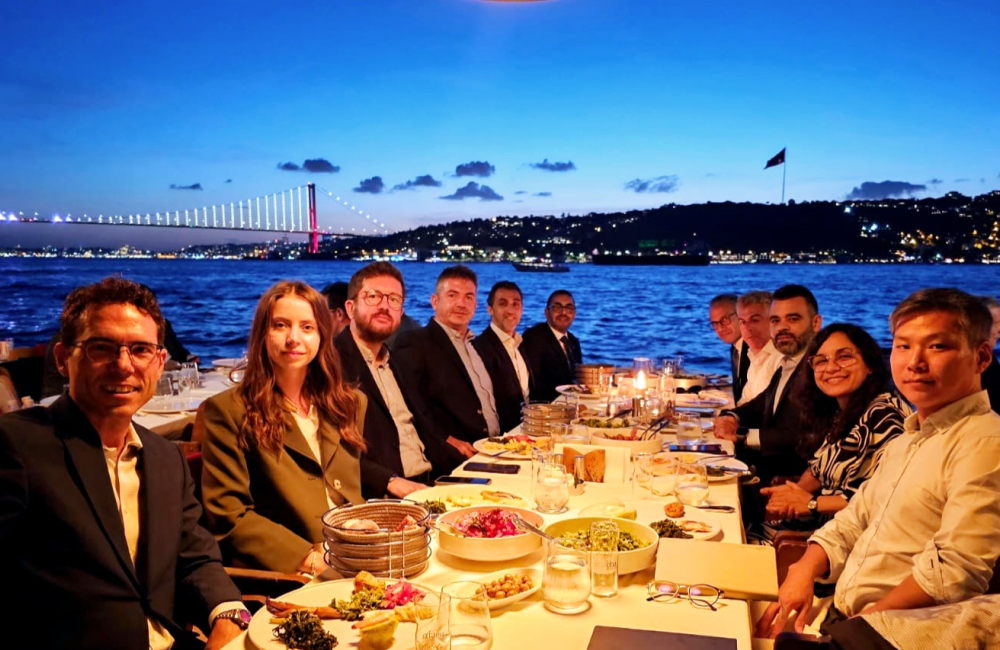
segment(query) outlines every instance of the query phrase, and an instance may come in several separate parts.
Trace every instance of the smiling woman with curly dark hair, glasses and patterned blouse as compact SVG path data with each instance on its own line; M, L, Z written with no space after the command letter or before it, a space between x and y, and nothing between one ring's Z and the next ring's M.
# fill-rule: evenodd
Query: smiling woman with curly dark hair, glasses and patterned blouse
M806 351L806 363L808 381L796 397L808 433L799 452L812 454L812 461L798 481L761 494L769 497L769 520L804 520L799 523L805 526L793 527L814 528L847 507L912 411L890 387L878 343L856 325L822 329Z

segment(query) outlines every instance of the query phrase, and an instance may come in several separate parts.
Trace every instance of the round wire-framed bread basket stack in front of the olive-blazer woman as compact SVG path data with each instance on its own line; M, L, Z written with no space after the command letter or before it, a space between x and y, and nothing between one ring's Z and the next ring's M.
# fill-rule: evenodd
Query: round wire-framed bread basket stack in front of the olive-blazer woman
M409 515L417 525L395 532ZM368 571L379 578L409 578L427 568L431 556L427 508L412 502L372 501L334 508L323 515L326 563L345 576ZM379 532L352 530L351 519L374 521Z

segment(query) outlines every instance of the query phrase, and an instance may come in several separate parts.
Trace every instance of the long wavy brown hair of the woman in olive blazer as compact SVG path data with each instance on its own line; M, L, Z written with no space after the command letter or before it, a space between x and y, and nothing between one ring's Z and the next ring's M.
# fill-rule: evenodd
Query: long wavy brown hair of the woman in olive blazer
M365 441L354 426L358 397L345 383L340 369L340 357L333 346L333 320L326 299L318 291L293 280L283 280L260 297L247 349L247 370L237 389L246 404L246 416L240 426L240 445L250 443L278 454L285 435L285 412L288 407L274 378L274 365L267 354L267 334L271 329L271 314L276 302L286 296L302 298L312 307L319 329L319 351L309 363L302 394L312 402L320 419L333 425L340 436L359 451L365 451Z

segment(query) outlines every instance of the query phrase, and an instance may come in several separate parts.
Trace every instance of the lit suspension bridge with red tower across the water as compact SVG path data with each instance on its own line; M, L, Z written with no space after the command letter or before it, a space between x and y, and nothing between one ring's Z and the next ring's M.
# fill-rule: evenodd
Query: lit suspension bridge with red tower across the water
M321 200L332 201L344 211L352 213L358 225L349 226L350 232L320 229L317 221L317 187L306 183L282 192L274 192L241 201L231 201L202 208L147 212L145 214L53 214L40 216L37 213L6 213L0 210L0 221L23 221L32 223L73 223L95 226L152 226L159 228L198 228L208 230L260 231L309 235L309 252L319 251L320 236L352 236L358 234L360 220L365 221L361 234L386 234L385 224L370 214L333 192L318 189Z

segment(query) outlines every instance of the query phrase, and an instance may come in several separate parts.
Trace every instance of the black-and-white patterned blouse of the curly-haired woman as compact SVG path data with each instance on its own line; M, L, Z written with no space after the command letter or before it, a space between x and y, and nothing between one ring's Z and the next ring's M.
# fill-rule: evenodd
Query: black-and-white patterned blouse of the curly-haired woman
M897 393L882 393L847 436L833 444L824 442L809 463L821 485L819 496L850 500L875 473L886 444L903 433L903 420L912 412Z

